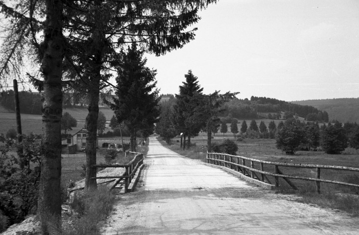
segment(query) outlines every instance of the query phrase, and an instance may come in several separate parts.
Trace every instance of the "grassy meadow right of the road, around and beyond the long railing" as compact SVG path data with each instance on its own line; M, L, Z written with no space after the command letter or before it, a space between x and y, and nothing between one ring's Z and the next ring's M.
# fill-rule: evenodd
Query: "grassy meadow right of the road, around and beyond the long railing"
M244 139L236 141L233 136L225 136L226 139L231 139L236 142L238 146L237 155L269 161L269 162L284 162L293 164L324 164L324 165L341 165L359 168L359 154L352 154L356 152L354 149L347 148L344 154L325 154L323 151L298 151L295 155L286 155L276 148L276 141L270 139ZM171 145L167 145L165 141L160 141L164 146L175 151L183 156L191 159L198 159L203 162L206 161L206 146L205 140L207 138L195 137L192 139L193 143L189 149L183 150L180 147L179 138L174 138ZM215 141L221 142L223 137L215 137ZM159 140L161 140L159 138ZM177 142L178 141L178 142ZM246 163L246 165L250 165ZM258 168L258 166L255 165ZM273 169L265 165L264 170L274 172ZM284 174L298 175L298 176L314 176L315 172L311 169L304 168L280 168ZM358 173L348 173L343 171L333 171L322 169L321 175L325 179L337 180L352 184L359 184ZM314 176L315 177L315 176ZM274 178L270 178L274 182ZM338 209L347 211L354 216L359 216L359 188L345 187L333 184L321 184L321 194L316 193L315 183L303 180L292 180L292 182L299 188L293 190L283 179L279 179L278 192L281 193L296 193L300 197L298 201L317 204L319 206L331 209Z

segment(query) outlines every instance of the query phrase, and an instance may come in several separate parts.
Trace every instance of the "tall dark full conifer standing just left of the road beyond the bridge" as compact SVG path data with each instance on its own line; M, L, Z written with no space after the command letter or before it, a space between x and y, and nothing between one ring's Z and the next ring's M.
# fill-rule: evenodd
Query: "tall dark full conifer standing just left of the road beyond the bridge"
M156 88L156 71L147 68L143 52L136 44L128 47L128 52L121 50L122 63L116 78L117 90L112 102L108 102L119 123L124 122L130 130L130 149L135 150L137 131L156 123L158 110L158 90Z

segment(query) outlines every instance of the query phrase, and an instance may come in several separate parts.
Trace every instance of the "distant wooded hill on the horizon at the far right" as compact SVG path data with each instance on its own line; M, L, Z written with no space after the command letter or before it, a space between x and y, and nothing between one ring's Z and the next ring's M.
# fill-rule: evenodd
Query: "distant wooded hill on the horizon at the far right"
M330 120L359 123L359 98L314 99L291 101L291 103L310 105L319 110L327 111Z

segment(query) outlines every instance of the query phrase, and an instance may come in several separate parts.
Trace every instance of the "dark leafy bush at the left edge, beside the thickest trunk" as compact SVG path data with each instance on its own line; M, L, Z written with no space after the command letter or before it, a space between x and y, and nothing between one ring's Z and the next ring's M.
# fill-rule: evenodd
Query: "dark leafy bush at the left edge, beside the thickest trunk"
M23 137L19 146L25 154L18 158L8 154L13 141L0 136L0 208L7 225L21 222L37 209L41 143L35 135ZM19 167L20 162L24 168Z

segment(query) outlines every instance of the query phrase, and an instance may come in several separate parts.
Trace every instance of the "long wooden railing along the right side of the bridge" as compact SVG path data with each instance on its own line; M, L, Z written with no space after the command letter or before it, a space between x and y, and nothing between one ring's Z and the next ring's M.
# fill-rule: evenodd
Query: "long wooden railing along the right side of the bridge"
M227 160L229 160L229 161L227 161ZM246 166L246 161L250 162L250 167ZM207 163L215 164L215 165L222 165L227 168L234 169L238 172L241 172L244 175L249 176L252 179L266 182L271 185L272 185L272 183L268 179L267 176L268 175L273 176L275 178L274 185L276 187L279 186L279 178L283 178L283 180L285 182L287 182L287 184L295 190L297 190L298 188L289 179L315 181L316 190L318 193L320 193L320 183L321 182L344 185L344 186L352 186L352 187L359 188L359 185L356 185L356 184L350 184L350 183L333 181L333 180L325 180L325 179L321 179L321 176L320 176L321 169L335 169L335 170L346 170L346 171L359 172L359 168L354 168L354 167L336 166L336 165L274 163L274 162L267 162L267 161L246 158L246 157L242 157L242 156L223 154L223 153L207 153ZM259 164L259 169L256 169L254 167L254 163L257 163L257 165ZM264 164L273 165L274 172L272 173L272 172L264 171ZM316 178L284 175L278 166L297 167L297 168L315 168L316 169ZM257 175L257 173L258 173L258 175Z

